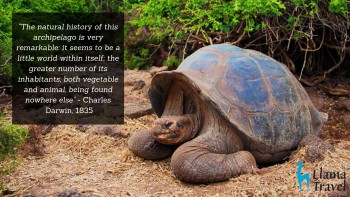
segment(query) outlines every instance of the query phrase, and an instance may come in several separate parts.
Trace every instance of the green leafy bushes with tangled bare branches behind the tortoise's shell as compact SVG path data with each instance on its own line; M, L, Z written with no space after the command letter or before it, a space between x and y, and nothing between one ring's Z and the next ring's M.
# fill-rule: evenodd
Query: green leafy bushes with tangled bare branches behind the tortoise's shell
M178 64L196 49L230 42L321 79L349 54L346 0L124 0L130 67ZM162 61L160 61L160 59ZM168 61L167 61L168 59ZM342 68L343 73L348 72ZM318 81L318 82L319 82Z

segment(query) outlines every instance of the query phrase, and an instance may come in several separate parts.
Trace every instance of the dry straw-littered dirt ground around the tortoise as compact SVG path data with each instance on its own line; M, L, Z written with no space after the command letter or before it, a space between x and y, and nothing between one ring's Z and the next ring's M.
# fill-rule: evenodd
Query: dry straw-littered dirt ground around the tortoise
M146 89L132 88L140 79L147 87L149 73L128 71L128 76L126 104L147 103ZM308 88L308 92L315 104L318 102L319 109L329 115L321 136L334 145L335 152L326 151L322 161L305 162L302 171L312 175L322 167L323 171L345 172L349 180L350 124L344 120L350 112L343 104L339 105L349 98L329 96L316 88ZM300 191L296 172L297 162L307 154L303 147L293 152L289 161L267 167L266 173L241 175L209 185L183 183L172 174L169 159L147 161L127 148L129 136L149 129L155 119L154 114L149 114L137 118L126 116L125 124L117 126L55 126L40 135L43 154L20 155L19 166L12 174L1 177L0 182L14 192L7 196L58 196L68 191L80 196L327 196L325 191L315 191L315 182L343 181L312 179L311 189Z

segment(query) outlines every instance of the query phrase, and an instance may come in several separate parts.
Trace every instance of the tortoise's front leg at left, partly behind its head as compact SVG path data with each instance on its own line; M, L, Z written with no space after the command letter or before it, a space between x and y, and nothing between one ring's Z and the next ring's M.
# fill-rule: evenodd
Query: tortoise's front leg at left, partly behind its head
M136 155L149 160L159 160L170 157L173 146L160 144L152 138L152 130L134 133L128 141L129 149Z

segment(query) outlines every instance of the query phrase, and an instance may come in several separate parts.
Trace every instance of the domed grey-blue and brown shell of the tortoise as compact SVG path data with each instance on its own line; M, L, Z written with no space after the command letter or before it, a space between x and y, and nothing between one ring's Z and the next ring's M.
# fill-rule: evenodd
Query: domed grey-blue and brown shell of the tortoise
M309 133L318 135L325 122L288 68L257 51L210 45L177 70L155 75L149 97L158 116L172 80L186 82L234 128L276 151L295 148Z

